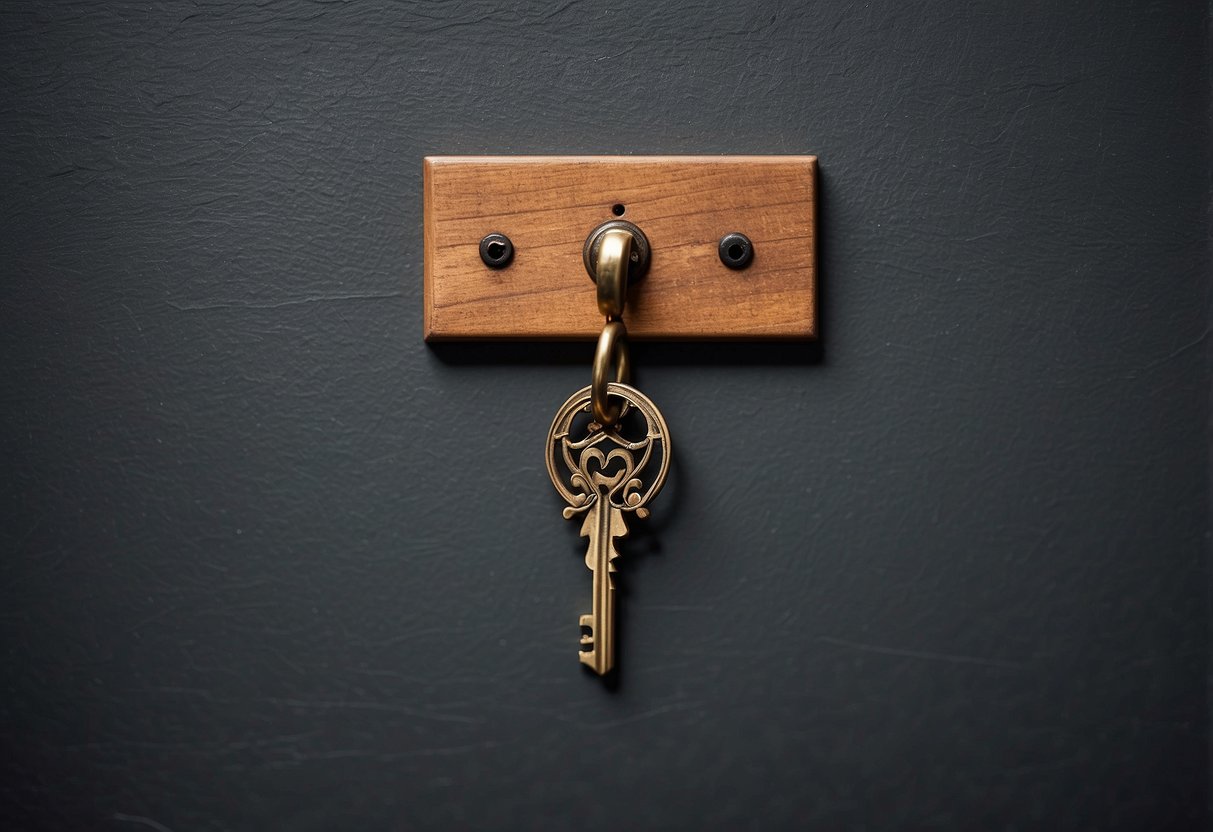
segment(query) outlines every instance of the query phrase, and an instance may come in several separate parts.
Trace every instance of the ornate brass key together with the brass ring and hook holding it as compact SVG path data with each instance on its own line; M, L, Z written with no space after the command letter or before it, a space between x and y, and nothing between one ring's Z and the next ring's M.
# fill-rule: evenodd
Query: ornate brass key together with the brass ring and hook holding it
M648 517L670 471L670 431L656 405L626 382L627 330L620 319L627 291L631 237L602 235L594 278L598 308L606 315L594 353L592 383L556 414L547 435L547 473L569 506L583 514L586 566L593 572L593 606L581 616L581 662L599 676L615 666L615 541L627 536L625 513ZM587 247L587 251L590 249ZM615 381L609 381L610 366ZM627 416L627 418L625 418ZM574 435L576 433L576 435Z

